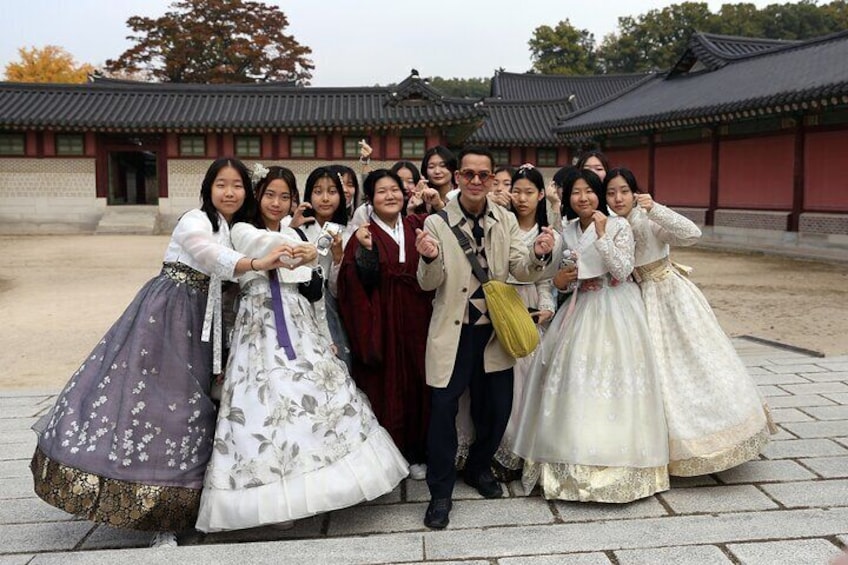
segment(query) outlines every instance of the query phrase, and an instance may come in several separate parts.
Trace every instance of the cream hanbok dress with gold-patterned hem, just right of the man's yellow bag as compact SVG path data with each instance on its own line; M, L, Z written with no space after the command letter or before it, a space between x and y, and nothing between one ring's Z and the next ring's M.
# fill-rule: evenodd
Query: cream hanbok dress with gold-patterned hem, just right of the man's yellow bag
M566 224L578 253L573 307L545 333L525 383L515 453L529 492L545 498L630 502L668 489L668 431L645 310L630 280L633 233L609 218Z

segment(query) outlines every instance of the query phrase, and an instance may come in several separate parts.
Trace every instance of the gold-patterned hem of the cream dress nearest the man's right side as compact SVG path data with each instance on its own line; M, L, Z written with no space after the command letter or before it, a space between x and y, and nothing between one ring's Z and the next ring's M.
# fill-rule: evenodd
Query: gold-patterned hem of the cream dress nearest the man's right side
M525 464L525 489L536 475L548 499L621 504L669 489L666 467L597 467L567 463ZM535 467L535 469L533 469Z

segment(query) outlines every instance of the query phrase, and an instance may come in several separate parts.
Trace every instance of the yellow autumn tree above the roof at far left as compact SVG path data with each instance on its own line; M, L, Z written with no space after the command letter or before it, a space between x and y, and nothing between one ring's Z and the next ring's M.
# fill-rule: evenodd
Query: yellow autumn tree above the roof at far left
M14 82L80 83L88 80L94 67L77 64L73 55L55 45L41 49L21 47L19 63L6 65L6 80Z

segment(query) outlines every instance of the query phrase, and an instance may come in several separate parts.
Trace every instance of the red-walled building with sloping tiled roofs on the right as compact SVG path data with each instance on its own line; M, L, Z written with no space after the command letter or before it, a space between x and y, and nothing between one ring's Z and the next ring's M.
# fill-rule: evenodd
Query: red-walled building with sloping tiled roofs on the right
M555 128L600 146L714 243L848 259L848 31L802 42L695 34L675 67Z

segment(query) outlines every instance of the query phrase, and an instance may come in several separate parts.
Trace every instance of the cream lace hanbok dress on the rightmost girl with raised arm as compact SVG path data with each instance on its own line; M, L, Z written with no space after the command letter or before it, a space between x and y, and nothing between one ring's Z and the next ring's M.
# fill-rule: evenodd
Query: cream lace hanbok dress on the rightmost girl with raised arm
M756 459L769 439L766 404L704 295L669 260L669 245L692 245L701 230L656 203L627 219L663 389L669 473L706 475Z

